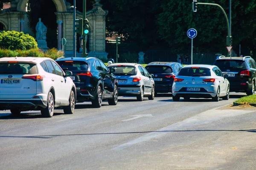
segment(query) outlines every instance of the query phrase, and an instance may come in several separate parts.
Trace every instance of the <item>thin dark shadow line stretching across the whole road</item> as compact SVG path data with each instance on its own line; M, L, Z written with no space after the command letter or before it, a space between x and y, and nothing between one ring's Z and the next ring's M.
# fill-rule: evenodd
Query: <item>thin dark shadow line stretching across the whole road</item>
M134 134L134 133L169 133L169 132L256 132L256 129L249 130L163 130L163 131L145 131L145 132L119 132L119 133L81 133L81 134L62 134L62 135L39 135L39 136L0 136L5 138L42 138L51 139L58 136L87 136L87 135L116 135L116 134Z

